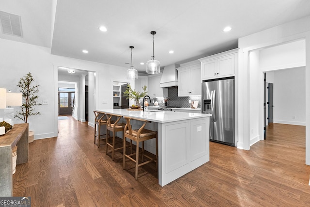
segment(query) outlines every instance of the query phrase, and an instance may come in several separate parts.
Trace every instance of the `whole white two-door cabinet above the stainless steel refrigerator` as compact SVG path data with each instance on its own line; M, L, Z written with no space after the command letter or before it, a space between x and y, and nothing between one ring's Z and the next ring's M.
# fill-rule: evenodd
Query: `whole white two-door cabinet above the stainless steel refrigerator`
M238 67L238 49L232 49L199 60L201 61L202 80L234 76Z

